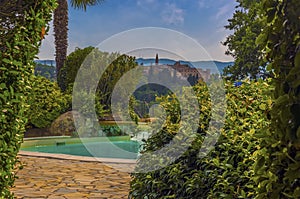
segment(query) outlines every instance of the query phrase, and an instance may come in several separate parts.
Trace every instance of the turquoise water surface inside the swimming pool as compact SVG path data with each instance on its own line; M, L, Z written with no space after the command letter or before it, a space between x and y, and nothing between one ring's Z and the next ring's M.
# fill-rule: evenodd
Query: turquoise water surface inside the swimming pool
M22 150L88 157L136 159L139 148L140 144L136 141L112 141L90 142L84 144L66 144L65 142L56 142L52 145L24 147Z

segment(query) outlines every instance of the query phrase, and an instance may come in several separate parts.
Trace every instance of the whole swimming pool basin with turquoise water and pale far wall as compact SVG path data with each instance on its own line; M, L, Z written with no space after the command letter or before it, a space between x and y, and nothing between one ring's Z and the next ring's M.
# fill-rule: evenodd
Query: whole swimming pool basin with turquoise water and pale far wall
M100 139L90 139L88 141L81 141L74 138L64 138L34 141L31 144L27 142L21 149L43 153L121 159L137 159L140 149L139 142L132 140L119 141L118 139L112 139L112 141L103 141Z

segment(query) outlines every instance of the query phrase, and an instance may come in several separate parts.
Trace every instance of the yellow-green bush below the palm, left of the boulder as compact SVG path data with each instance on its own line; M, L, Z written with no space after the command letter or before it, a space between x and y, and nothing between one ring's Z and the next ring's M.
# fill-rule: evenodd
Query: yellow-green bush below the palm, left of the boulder
M49 127L60 114L71 108L71 96L63 94L55 82L45 77L33 77L31 82L28 124L37 128Z

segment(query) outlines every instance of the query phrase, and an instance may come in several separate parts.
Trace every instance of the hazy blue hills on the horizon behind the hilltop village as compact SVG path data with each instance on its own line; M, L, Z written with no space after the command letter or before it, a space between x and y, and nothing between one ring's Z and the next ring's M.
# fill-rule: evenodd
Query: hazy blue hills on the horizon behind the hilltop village
M138 58L136 62L139 65L150 66L155 64L155 59L143 59ZM159 59L159 64L162 65L174 65L176 61L171 59ZM220 73L223 72L223 69L226 66L233 65L234 62L221 62L221 61L197 61L197 62L187 62L187 61L180 61L181 64L188 64L191 67L201 68L203 70L210 69L211 73L217 73L219 70Z

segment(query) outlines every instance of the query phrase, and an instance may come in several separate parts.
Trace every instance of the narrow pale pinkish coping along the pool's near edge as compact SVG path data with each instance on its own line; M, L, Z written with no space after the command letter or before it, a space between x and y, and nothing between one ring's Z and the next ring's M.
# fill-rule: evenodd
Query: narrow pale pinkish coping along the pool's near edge
M20 150L18 155L40 157L40 158L53 158L53 159L61 159L61 160L74 160L74 161L82 161L82 162L102 162L102 163L132 164L132 165L135 165L137 163L137 160L131 160L131 159L98 158L98 157L67 155L61 153L42 153L42 152L23 151L23 150Z

